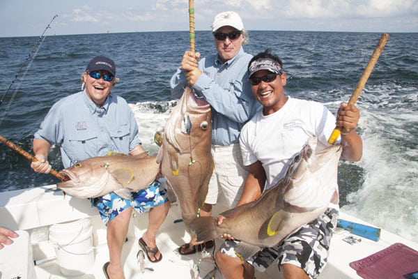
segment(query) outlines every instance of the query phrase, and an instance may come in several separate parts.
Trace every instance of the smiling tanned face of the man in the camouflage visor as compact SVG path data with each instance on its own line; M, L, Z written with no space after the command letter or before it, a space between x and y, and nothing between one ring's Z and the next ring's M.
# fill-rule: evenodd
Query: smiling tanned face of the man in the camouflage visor
M258 70L251 77L264 77L270 74L268 70ZM288 98L284 94L284 86L286 85L286 73L277 75L271 82L261 80L259 84L251 85L254 97L263 105L263 114L268 115L284 106Z

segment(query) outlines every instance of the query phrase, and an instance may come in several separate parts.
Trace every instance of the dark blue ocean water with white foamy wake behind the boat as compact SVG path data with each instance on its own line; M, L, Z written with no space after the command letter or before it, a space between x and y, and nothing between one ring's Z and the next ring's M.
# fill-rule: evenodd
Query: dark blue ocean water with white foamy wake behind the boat
M336 113L348 101L381 33L249 31L245 51L270 47L284 61L286 93L324 103ZM189 48L187 31L52 36L46 33L23 80L15 75L37 37L0 38L0 135L32 153L33 133L57 100L79 91L80 77L95 55L116 61L121 81L112 92L130 103L140 137L150 152L156 130L176 105L169 79ZM364 156L341 161L342 209L407 239L418 241L418 33L391 33L357 100L358 132ZM210 31L196 32L196 51L215 52ZM20 84L20 85L19 85ZM4 96L9 86L7 96ZM19 90L17 90L19 89ZM49 161L61 169L59 149ZM0 195L3 191L56 183L36 174L29 160L0 143Z

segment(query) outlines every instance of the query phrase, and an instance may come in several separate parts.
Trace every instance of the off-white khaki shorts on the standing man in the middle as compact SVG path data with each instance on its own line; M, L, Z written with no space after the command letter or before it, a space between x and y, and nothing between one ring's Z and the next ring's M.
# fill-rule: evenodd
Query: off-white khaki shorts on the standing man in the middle
M240 200L247 168L242 164L240 144L212 145L215 169L209 182L206 204L222 204L232 208Z

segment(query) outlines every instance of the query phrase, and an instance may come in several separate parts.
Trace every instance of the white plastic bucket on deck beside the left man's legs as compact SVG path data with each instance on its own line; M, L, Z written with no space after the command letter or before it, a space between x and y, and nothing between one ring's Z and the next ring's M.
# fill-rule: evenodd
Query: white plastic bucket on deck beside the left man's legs
M93 234L89 219L79 219L49 227L56 259L65 276L89 273L94 266Z

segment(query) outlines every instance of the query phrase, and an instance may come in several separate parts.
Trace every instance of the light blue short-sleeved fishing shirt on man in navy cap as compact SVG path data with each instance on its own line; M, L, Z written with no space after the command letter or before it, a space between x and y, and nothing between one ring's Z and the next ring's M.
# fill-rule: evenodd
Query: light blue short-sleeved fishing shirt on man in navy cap
M129 153L141 144L137 121L125 99L109 95L98 107L86 91L55 103L35 137L60 146L65 168L109 151Z

